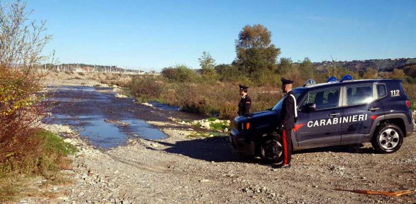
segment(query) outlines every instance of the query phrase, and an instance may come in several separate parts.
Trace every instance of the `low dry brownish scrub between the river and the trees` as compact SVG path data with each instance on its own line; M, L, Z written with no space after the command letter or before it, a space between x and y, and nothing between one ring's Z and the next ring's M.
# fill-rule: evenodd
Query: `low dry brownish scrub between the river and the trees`
M128 86L139 101L158 101L184 111L222 118L237 116L240 100L236 82L166 82L163 78L137 78ZM250 87L251 112L273 107L282 97L277 87Z

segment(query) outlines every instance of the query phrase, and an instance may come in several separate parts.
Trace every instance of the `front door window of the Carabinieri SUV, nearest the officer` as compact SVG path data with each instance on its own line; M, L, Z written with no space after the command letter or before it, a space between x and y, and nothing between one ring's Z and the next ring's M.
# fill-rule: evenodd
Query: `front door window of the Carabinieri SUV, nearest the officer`
M305 101L302 103L315 103L316 109L326 109L326 108L335 108L338 107L339 101L339 87L334 89L325 89L322 91L316 91L308 94Z

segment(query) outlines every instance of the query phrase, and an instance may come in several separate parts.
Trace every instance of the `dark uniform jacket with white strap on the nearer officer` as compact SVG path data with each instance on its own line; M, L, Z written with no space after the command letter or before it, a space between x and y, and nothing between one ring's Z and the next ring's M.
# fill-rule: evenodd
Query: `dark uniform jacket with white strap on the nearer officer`
M283 125L283 129L293 129L295 127L297 112L296 112L295 95L292 91L289 91L282 103L282 109L280 111L280 124Z

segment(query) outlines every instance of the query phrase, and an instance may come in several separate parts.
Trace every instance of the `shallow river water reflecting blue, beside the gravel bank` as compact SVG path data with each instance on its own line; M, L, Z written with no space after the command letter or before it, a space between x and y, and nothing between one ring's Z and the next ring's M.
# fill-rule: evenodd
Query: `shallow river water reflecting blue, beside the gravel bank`
M167 121L173 116L199 119L200 116L178 111L178 107L153 102L155 107L133 103L131 98L116 98L111 88L88 86L48 87L52 116L43 122L70 125L81 137L98 148L111 148L140 137L148 140L167 135L145 121Z

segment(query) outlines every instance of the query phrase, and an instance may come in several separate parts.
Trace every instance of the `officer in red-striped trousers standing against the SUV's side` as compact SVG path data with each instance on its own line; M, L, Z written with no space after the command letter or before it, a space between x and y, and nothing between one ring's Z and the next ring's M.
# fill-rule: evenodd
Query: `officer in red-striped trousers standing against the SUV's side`
M283 98L280 111L280 124L282 128L283 162L280 168L290 168L292 158L292 129L295 127L297 118L296 98L292 91L293 81L282 78L282 92L286 93Z

